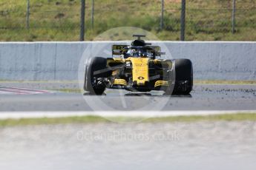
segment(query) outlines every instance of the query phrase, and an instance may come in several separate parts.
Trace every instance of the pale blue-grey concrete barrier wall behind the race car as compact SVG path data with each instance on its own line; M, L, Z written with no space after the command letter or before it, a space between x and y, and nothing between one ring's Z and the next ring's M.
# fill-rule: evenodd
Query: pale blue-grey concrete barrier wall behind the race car
M114 41L0 43L0 80L76 81L78 72L84 74L84 70L79 70L84 50L104 48L101 56L111 57L108 53L111 54L112 44ZM197 80L256 80L256 42L153 44L165 45L172 58L190 58Z

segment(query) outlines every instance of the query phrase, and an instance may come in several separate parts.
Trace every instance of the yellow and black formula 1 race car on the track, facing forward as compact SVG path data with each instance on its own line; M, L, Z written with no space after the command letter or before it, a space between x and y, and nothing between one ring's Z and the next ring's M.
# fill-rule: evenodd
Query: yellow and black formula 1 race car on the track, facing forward
M188 59L159 59L165 52L134 35L131 45L113 45L112 58L94 57L85 62L85 91L102 95L106 88L132 92L163 90L165 95L188 95L193 68ZM114 55L118 55L114 58Z

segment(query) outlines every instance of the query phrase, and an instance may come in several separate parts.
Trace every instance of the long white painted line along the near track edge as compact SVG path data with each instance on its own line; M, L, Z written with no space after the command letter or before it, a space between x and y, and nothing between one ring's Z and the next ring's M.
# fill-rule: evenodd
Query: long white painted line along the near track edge
M0 120L20 118L67 118L72 116L102 116L102 117L142 117L142 118L164 118L169 116L190 115L223 115L237 113L256 113L256 110L227 110L227 111L136 111L136 112L0 112Z

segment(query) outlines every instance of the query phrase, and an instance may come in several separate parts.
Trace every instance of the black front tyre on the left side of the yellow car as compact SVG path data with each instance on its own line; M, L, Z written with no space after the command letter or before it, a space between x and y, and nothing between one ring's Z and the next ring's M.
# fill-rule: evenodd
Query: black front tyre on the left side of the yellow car
M99 80L99 78L107 78L108 75L107 58L90 58L85 63L85 91L93 95L102 95L106 85L105 82Z

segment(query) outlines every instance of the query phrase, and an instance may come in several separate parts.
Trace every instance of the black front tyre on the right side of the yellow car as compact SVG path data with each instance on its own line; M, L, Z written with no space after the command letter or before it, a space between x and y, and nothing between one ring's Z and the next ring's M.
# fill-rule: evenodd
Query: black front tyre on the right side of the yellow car
M172 95L189 95L193 88L193 66L188 59L174 60L175 84Z

